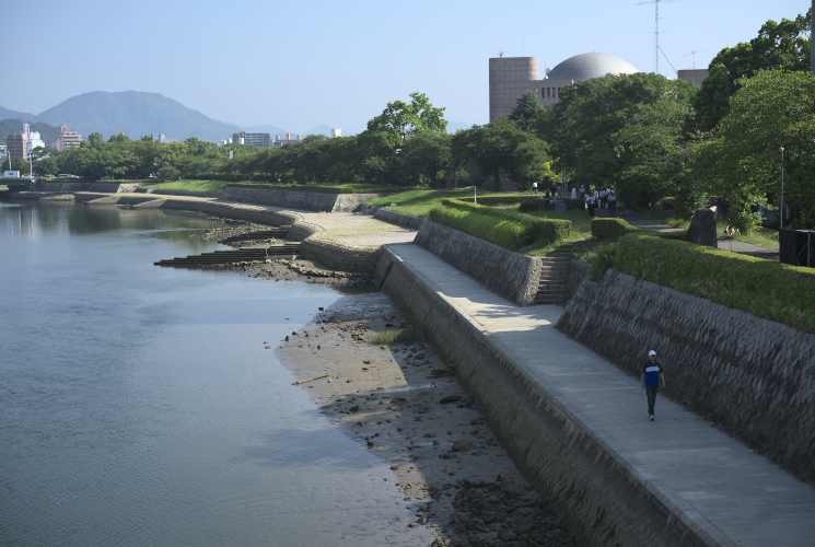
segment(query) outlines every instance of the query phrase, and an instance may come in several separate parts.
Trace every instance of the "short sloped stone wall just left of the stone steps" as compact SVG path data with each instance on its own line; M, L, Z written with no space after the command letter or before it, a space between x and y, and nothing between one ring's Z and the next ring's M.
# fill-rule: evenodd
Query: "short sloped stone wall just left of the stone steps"
M543 264L488 241L424 220L414 243L524 306L535 302Z

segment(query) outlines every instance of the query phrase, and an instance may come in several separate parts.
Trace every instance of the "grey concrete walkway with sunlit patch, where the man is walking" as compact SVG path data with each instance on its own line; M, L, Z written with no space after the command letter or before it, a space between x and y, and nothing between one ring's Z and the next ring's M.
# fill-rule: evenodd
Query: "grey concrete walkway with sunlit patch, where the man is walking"
M815 489L663 396L649 421L639 380L554 328L562 307L517 307L421 247L388 248L711 545L815 545Z

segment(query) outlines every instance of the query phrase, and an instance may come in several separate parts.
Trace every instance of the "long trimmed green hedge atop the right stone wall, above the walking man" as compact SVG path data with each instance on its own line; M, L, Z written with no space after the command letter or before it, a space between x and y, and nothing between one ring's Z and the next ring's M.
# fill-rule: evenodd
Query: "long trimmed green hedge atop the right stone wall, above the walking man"
M640 234L626 235L602 255L597 259L616 271L815 333L811 268Z

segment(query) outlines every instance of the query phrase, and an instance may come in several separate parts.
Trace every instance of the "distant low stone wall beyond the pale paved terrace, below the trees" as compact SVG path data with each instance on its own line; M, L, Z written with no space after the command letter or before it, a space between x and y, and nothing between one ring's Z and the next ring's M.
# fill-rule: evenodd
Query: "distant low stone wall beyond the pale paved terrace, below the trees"
M361 203L381 197L379 194L321 194L316 191L269 190L228 186L222 199L304 211L352 212Z

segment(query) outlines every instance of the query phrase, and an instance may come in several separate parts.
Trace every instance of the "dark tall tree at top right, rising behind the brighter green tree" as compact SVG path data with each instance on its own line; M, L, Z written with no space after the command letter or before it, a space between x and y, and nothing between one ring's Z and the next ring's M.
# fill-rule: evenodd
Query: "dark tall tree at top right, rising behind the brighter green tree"
M811 23L812 12L780 23L767 21L752 40L719 51L710 61L710 74L695 100L699 127L710 130L721 121L730 109L730 97L744 78L773 68L810 71Z

